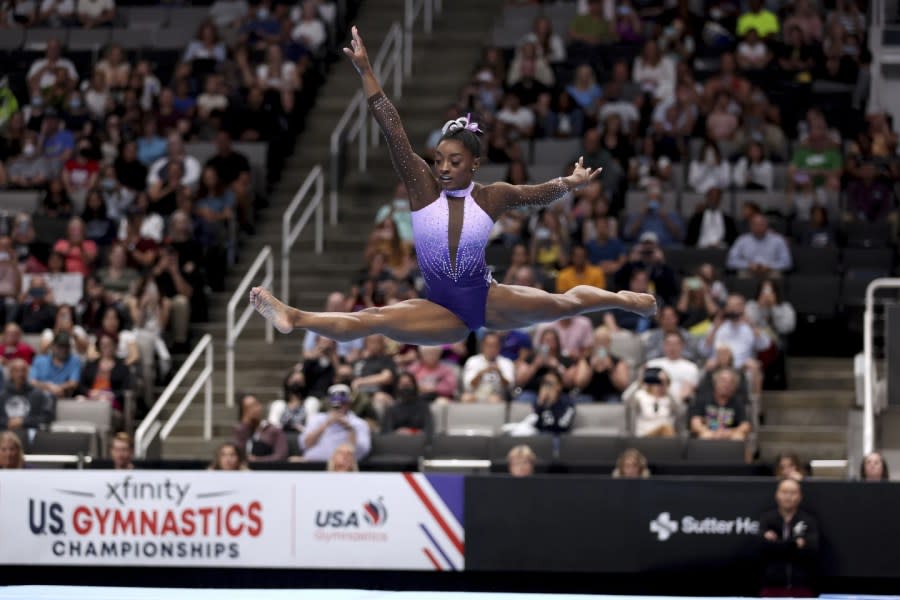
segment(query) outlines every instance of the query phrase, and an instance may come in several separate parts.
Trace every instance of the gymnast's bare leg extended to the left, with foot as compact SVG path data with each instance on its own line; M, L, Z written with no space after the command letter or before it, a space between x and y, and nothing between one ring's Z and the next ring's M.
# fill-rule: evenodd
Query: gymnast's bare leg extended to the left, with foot
M352 313L307 312L256 287L250 290L250 304L281 333L308 329L339 342L378 333L404 344L437 345L458 342L469 333L459 317L421 298Z

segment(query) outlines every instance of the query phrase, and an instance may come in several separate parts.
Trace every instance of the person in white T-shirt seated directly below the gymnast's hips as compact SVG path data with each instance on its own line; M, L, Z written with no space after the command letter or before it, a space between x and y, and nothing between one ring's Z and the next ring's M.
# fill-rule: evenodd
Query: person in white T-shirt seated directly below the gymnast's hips
M461 402L505 402L516 379L513 361L500 354L500 334L488 332L481 338L481 352L466 359L463 366Z

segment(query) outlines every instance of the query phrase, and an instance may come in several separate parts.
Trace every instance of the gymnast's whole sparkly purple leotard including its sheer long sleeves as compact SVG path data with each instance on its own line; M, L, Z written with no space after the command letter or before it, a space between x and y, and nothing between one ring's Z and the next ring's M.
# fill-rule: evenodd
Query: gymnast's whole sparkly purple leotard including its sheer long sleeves
M472 183L463 190L442 191L431 167L413 151L390 100L379 93L368 101L409 192L416 258L428 300L451 311L470 330L479 329L493 281L484 248L494 222L511 208L546 206L563 197L568 186L555 179L521 186Z

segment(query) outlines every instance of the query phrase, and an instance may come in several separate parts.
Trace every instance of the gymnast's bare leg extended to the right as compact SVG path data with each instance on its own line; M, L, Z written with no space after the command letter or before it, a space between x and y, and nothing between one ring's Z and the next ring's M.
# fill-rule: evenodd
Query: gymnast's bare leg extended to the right
M651 316L656 314L656 299L650 294L614 293L589 285L551 294L537 288L495 284L488 293L487 326L518 329L609 308Z

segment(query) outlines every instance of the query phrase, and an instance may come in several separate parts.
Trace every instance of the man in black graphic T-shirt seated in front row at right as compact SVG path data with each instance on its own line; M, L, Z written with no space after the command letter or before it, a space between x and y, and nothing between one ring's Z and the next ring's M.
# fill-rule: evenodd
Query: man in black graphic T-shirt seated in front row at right
M701 439L746 439L750 421L737 396L738 382L731 369L720 369L713 375L712 394L701 390L691 405L691 433Z

